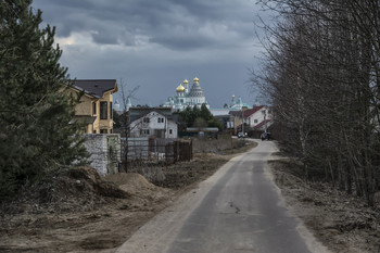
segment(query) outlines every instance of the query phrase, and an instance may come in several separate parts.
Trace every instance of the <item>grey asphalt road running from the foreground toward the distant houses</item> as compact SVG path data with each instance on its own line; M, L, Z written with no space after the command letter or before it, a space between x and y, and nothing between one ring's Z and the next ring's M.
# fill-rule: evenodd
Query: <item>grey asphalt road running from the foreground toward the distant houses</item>
M284 207L266 161L271 141L228 162L117 252L327 252Z

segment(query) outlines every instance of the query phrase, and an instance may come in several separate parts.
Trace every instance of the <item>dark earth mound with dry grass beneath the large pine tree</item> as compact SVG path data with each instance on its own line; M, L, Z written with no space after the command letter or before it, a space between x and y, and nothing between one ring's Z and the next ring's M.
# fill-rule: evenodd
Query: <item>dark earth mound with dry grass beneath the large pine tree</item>
M90 211L109 199L129 197L115 184L102 180L92 167L61 168L25 186L13 202L3 203L0 210L3 215Z

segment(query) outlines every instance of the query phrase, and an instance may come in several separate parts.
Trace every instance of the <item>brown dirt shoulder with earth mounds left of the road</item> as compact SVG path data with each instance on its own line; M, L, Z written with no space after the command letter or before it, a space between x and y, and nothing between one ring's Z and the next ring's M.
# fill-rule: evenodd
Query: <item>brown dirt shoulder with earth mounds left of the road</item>
M160 186L134 173L101 178L91 167L51 172L0 206L0 252L113 252L197 182L250 148L198 153L190 162L164 167Z

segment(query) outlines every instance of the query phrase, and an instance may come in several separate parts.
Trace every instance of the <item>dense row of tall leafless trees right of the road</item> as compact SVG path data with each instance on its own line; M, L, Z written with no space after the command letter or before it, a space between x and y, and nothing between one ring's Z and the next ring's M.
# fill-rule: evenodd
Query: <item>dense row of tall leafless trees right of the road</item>
M373 203L380 191L380 1L262 0L264 68L282 150Z

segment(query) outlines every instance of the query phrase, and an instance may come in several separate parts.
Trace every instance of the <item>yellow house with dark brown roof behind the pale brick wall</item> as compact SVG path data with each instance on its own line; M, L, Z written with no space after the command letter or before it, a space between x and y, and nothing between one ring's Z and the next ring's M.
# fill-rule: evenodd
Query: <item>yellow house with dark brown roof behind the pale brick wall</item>
M115 79L78 79L71 87L73 96L84 92L75 107L75 118L87 123L86 134L112 134L113 93L117 92Z

